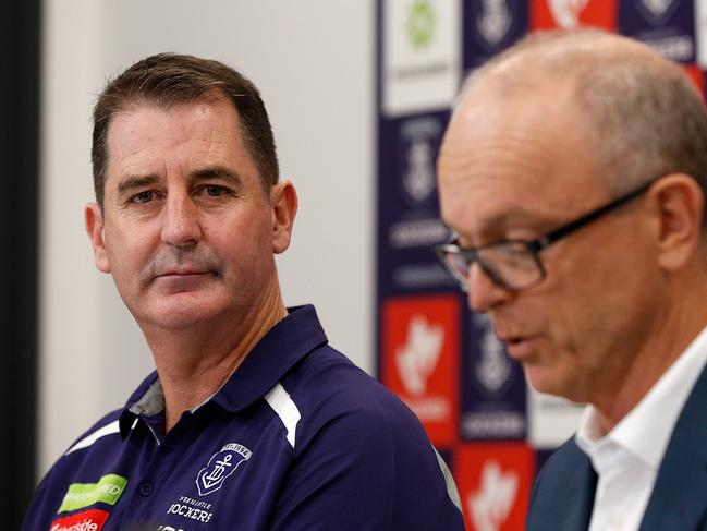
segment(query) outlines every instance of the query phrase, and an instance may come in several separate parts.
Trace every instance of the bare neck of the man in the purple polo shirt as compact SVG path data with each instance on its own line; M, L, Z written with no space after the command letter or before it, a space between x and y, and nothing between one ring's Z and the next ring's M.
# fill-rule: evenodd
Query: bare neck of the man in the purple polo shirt
M164 391L166 432L184 411L214 396L258 341L287 315L276 281L246 315L227 316L218 323L176 331L145 331Z

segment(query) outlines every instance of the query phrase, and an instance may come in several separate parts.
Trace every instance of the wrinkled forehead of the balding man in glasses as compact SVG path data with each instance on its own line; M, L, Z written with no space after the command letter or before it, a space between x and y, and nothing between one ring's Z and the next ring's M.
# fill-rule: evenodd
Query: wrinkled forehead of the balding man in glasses
M444 221L474 239L508 227L551 224L608 196L570 93L548 86L500 97L471 90L440 149Z

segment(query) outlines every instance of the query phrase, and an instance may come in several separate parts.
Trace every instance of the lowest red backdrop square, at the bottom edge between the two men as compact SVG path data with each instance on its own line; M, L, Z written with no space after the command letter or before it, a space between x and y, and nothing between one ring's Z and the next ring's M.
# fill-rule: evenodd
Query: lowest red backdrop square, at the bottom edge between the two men
M524 443L464 444L454 473L468 531L524 528L535 457Z

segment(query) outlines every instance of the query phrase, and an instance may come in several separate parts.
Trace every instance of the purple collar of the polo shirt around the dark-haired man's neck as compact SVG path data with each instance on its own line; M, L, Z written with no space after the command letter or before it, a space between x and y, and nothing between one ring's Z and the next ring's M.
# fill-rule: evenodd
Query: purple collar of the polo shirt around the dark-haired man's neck
M258 341L239 369L205 403L215 402L228 411L249 406L272 389L300 360L328 341L313 305L288 311L288 316ZM129 398L120 419L121 434L127 434L135 417L155 415L163 409L162 386L157 373L153 372Z

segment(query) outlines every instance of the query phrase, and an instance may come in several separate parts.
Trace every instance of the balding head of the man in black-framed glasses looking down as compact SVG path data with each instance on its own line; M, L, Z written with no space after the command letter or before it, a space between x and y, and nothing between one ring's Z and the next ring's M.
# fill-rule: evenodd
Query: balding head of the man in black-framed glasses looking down
M706 171L680 67L597 31L534 35L454 110L438 191L455 242L439 250L536 389L615 422L707 322Z

